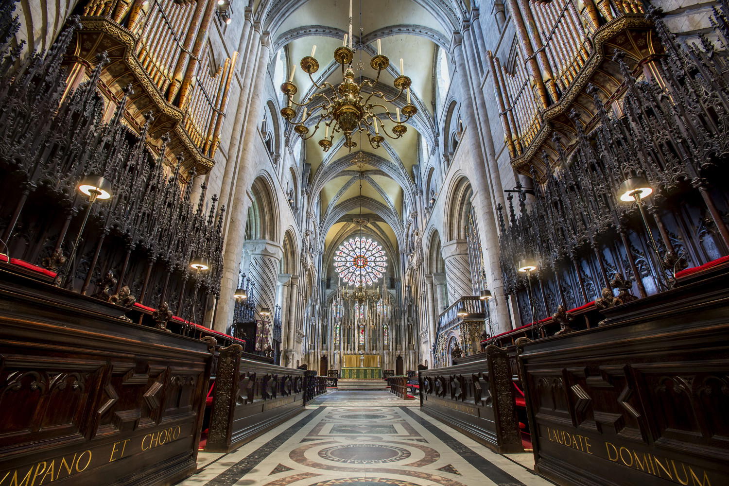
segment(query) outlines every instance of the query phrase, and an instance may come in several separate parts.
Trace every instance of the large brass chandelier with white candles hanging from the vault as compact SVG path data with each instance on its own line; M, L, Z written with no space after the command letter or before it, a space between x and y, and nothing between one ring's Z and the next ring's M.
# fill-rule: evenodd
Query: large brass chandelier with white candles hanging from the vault
M347 39L349 40L348 45ZM374 149L378 149L380 144L385 141L380 131L389 138L400 138L408 131L408 128L403 123L408 122L418 112L416 106L410 103L411 81L409 77L403 74L402 59L400 59L400 75L392 83L395 89L399 90L397 95L394 98L388 99L381 91L374 91L365 99L362 95L366 93L362 93L362 89L365 85L369 87L375 87L377 85L381 72L388 68L390 60L386 55L382 54L381 42L378 39L377 55L370 60L370 66L377 71L377 77L373 81L371 79L362 79L362 76L360 76L362 82L358 84L354 81L354 71L351 66L354 52L352 50L352 2L350 0L349 34L344 34L343 44L334 51L335 60L342 65L343 82L338 87L335 87L327 81L324 81L321 85L317 84L312 74L319 70L319 62L314 58L316 46L313 46L311 55L301 59L301 68L308 73L313 85L321 90L330 87L332 93L314 93L304 103L296 103L293 99L293 96L298 91L298 88L293 82L296 65L292 68L289 81L281 83L281 91L289 98L288 106L284 106L281 109L281 116L288 120L289 123L295 124L294 131L304 140L313 137L319 131L320 125L324 124L324 138L319 140L319 146L324 149L324 152L330 149L335 134L340 132L346 137L344 145L348 147L350 152L352 147L357 145L352 140L352 134L358 131L359 133L366 133L370 145ZM400 109L396 107L393 116L390 109L381 103L393 103L402 95L403 91L406 93L408 103L402 107L402 115ZM296 110L292 107L293 105L303 107L300 117L297 116ZM295 122L293 121L294 119L298 119L299 121ZM312 119L312 122L316 120L316 126L314 127L313 133L308 135L310 130L307 125L310 119ZM391 128L392 135L386 130L385 124L383 123L384 119L389 119L395 124ZM370 132L370 127L374 129L374 136Z

